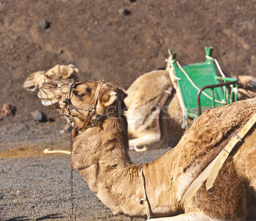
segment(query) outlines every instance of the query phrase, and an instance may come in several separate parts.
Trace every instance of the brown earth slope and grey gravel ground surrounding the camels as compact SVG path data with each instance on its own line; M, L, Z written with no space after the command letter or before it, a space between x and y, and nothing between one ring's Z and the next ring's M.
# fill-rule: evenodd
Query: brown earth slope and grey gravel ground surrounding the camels
M48 29L40 22L50 23ZM69 149L65 124L26 91L26 77L73 63L78 79L105 79L127 89L141 74L165 67L167 49L181 64L204 61L213 46L221 68L256 77L255 0L0 0L0 220L67 220L69 157L44 156L44 148ZM39 109L48 122L34 122ZM131 153L151 161L167 150ZM112 215L74 174L77 220L131 220ZM67 211L68 210L68 211ZM137 220L137 219L134 219Z

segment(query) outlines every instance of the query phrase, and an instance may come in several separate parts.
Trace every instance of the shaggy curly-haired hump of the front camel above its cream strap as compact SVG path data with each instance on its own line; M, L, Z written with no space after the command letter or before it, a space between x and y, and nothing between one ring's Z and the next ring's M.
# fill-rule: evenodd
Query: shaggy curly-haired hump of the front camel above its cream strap
M231 129L244 126L254 113L256 97L208 110L194 122L184 137L197 146L212 148Z

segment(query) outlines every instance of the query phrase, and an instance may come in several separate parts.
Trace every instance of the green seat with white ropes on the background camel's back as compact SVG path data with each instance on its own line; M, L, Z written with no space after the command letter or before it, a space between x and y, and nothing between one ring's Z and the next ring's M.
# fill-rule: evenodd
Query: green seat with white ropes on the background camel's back
M218 62L212 58L212 50L212 47L205 47L205 62L183 66L175 60L177 53L170 53L167 68L186 117L196 119L207 109L226 105L237 99L237 79L224 76ZM216 72L216 62L222 76L218 76Z

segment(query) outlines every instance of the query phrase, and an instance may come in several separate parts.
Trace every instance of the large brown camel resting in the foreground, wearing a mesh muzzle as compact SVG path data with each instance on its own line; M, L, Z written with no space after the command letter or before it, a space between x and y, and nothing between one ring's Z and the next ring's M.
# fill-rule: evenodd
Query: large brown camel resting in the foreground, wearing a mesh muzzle
M71 166L114 213L152 221L256 219L254 127L224 162L213 187L207 191L203 182L185 208L180 204L189 185L256 113L256 98L206 111L175 148L151 163L134 164L120 88L53 79L38 96L52 111L72 117ZM185 213L176 215L180 210Z

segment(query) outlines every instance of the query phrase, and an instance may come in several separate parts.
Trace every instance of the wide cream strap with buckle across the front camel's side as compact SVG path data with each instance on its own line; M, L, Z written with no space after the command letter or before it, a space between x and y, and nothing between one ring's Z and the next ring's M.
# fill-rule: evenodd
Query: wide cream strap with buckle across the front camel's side
M189 186L189 188L184 193L183 197L180 201L180 206L184 210L195 195L196 191L201 187L204 181L207 180L206 188L209 190L215 181L219 171L221 170L222 165L226 161L227 157L236 146L237 143L241 142L241 139L248 133L248 131L253 127L256 122L256 113L252 116L252 118L244 125L244 127L239 131L238 134L233 135L230 139L230 142L221 150L217 157L205 168L205 170L195 179L195 181Z

